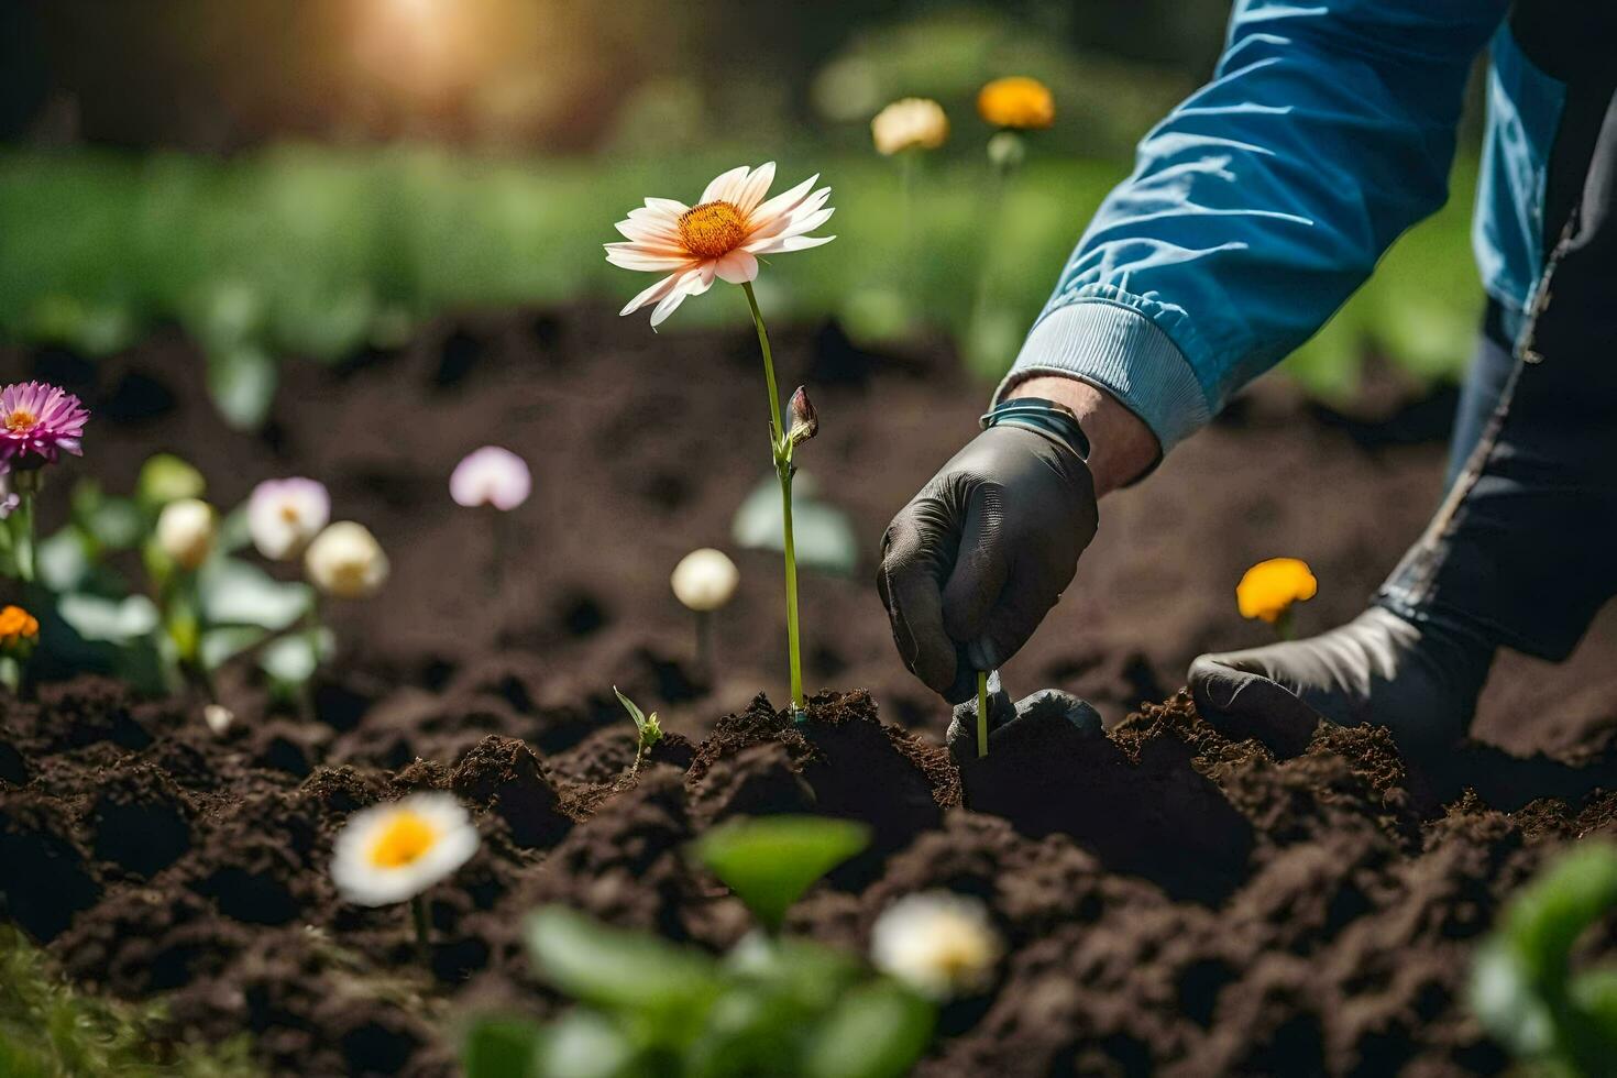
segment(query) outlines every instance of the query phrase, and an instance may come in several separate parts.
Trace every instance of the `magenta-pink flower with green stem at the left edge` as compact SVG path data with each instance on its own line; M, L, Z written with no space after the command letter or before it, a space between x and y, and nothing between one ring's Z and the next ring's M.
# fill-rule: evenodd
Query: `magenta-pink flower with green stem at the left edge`
M8 477L0 491L0 553L10 575L24 583L36 575L34 498L44 488L44 469L63 453L84 454L89 417L76 396L44 381L15 381L0 390L0 475Z

